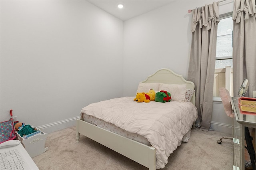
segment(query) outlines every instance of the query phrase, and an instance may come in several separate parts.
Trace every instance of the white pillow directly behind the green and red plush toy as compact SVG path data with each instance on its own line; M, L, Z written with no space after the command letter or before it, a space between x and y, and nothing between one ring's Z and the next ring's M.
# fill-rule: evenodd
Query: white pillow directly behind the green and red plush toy
M160 83L159 91L164 90L171 93L173 101L184 102L187 85Z

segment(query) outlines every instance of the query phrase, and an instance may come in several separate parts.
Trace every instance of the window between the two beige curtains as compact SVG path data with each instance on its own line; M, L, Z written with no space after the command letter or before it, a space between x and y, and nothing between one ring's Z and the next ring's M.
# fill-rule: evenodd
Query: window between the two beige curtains
M216 46L216 61L214 73L214 90L213 96L219 97L220 87L226 87L233 91L232 78L232 38L233 38L233 20L232 12L220 16L218 24L217 46Z

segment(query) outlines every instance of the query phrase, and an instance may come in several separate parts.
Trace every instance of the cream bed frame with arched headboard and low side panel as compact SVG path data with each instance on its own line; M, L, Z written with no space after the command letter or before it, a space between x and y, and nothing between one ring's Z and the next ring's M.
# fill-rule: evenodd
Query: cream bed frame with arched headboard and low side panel
M166 83L166 84L186 84L187 89L194 90L194 83L186 81L182 75L174 73L170 69L159 69L154 74L149 75L143 83ZM195 93L191 102L195 105ZM103 128L97 127L90 123L77 119L76 123L76 142L79 142L80 134L103 144L104 146L130 158L149 170L156 169L156 149L152 146L147 146L135 140L126 138L119 134L115 134Z

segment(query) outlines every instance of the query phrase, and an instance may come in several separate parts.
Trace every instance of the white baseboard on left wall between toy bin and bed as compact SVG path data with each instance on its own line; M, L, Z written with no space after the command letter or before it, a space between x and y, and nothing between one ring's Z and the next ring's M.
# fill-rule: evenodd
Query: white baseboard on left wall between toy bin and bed
M58 122L50 123L47 125L42 125L37 128L45 133L51 133L51 132L55 132L55 131L58 131L58 130L61 130L64 128L75 126L76 119L79 119L79 118L80 118L80 116L73 117L70 119L63 120L63 121L58 121Z

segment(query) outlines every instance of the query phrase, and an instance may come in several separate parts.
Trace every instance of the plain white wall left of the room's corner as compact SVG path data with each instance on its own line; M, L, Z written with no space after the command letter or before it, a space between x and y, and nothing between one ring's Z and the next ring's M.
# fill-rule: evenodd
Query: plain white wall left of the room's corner
M121 20L86 1L0 3L0 121L12 109L20 122L45 127L121 97Z

